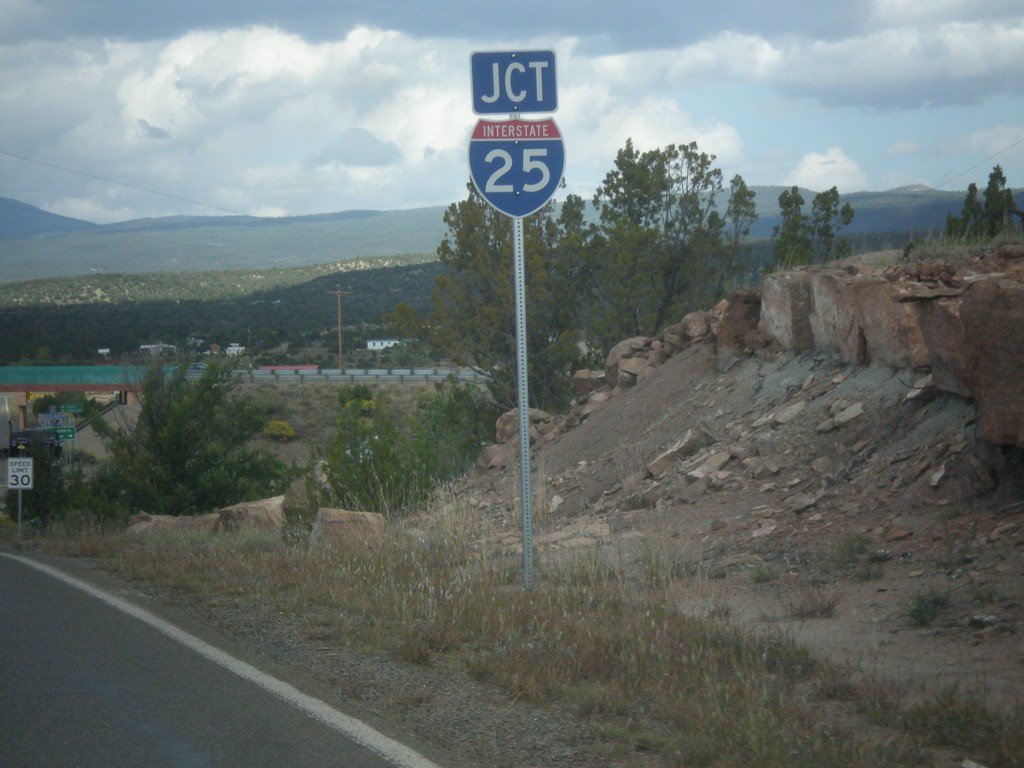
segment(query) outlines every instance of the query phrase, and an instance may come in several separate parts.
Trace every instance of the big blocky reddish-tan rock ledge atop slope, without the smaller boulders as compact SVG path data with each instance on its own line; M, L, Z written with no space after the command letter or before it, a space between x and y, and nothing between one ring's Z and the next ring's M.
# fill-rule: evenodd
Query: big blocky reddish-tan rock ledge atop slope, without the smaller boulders
M1024 263L1015 250L895 268L848 260L769 274L761 330L845 362L930 368L973 398L981 437L1024 446Z

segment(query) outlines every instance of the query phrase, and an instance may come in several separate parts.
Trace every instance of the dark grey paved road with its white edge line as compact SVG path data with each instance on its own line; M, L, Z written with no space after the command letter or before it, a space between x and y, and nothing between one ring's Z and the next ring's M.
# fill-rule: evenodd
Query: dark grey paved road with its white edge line
M5 552L0 766L437 768L153 613Z

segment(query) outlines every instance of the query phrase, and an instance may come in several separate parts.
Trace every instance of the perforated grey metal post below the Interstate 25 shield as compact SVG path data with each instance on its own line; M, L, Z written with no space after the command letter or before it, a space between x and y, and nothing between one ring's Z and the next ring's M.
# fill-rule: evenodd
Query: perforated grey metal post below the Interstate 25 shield
M519 487L522 508L522 586L534 590L534 495L529 486L529 380L526 367L526 268L522 217L512 218L515 280L516 391L519 401Z

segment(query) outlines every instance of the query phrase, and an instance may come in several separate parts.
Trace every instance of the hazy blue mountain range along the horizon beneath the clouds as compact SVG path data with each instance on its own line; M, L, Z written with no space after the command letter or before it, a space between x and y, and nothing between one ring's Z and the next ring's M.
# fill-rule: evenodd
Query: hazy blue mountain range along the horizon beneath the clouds
M751 237L767 239L780 223L778 196L788 187L754 186L759 218ZM815 193L801 189L810 213ZM861 243L938 234L958 215L964 191L904 186L843 195L853 205L844 229ZM1024 193L1016 197L1024 208ZM724 213L725 196L719 199ZM342 211L313 216L173 216L96 225L0 199L0 282L76 274L191 272L329 264L361 258L436 253L447 231L445 207ZM591 212L593 213L593 212ZM596 217L593 219L596 220Z

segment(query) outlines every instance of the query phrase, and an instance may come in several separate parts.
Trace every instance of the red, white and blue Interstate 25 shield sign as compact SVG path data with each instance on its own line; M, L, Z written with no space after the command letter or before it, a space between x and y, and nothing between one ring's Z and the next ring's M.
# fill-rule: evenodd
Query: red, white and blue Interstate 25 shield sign
M528 216L551 200L565 170L565 144L553 120L480 120L469 142L473 183L508 216Z

